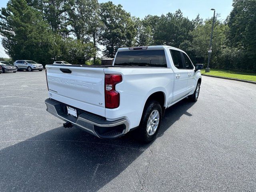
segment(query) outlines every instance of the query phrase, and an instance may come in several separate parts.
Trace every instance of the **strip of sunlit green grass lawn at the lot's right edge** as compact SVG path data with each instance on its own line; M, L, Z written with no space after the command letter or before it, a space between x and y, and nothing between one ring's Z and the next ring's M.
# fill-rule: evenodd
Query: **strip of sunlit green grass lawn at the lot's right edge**
M205 70L201 70L202 74L207 75L214 75L220 77L230 77L236 79L244 79L249 81L256 81L256 74L255 73L244 73L244 72L237 72L231 70L224 70L224 69L210 69L209 73L206 73Z

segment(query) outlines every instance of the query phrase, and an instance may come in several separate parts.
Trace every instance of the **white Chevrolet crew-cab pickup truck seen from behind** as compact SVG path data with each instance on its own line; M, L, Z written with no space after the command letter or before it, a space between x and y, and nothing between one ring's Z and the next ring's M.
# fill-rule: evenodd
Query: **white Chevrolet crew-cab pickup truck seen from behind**
M99 138L150 142L166 108L198 99L202 64L170 46L119 48L113 66L46 65L47 111Z

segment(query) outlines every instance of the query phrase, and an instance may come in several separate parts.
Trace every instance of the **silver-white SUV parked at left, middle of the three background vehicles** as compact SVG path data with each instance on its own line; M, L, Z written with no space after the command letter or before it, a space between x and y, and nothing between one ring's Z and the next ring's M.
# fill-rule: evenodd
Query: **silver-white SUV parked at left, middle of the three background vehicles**
M14 66L16 66L18 70L27 70L27 71L43 70L42 64L39 64L31 60L17 60L14 62Z

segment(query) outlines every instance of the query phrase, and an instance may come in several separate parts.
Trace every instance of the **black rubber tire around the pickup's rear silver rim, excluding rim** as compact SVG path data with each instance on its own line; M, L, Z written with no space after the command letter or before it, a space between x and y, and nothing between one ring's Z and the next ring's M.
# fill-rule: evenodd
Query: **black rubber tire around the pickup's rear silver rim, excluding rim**
M148 124L148 120L150 118L150 114L154 110L157 110L158 113L159 113L159 122L158 122L158 126L156 127L156 131L152 135L149 135L149 133L147 132L147 124ZM157 135L158 130L160 128L161 121L162 121L162 107L160 106L160 104L157 101L147 102L146 105L145 105L145 108L143 110L143 113L142 113L142 118L140 120L140 125L136 129L137 139L144 142L144 143L149 143L152 140L154 140L156 138L156 135Z

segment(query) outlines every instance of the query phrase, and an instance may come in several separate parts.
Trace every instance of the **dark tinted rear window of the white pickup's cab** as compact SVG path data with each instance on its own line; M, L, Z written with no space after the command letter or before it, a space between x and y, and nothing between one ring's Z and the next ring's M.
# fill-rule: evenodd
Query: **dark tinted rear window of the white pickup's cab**
M117 52L115 66L167 67L164 50Z

